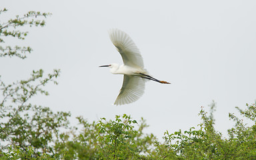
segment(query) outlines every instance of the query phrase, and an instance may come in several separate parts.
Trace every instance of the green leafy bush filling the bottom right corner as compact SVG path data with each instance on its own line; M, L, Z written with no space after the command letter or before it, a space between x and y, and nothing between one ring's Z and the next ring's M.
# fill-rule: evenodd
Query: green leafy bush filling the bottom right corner
M215 111L215 103L211 105ZM239 109L237 107L237 109ZM255 104L247 105L245 111L239 109L241 115L253 120L256 116ZM229 137L223 138L213 127L213 113L209 117L202 109L199 113L203 123L200 129L191 127L189 131L181 130L169 134L165 132L165 143L156 142L157 155L152 159L255 159L256 126L247 127L243 120L229 113L235 121L235 127L229 129Z

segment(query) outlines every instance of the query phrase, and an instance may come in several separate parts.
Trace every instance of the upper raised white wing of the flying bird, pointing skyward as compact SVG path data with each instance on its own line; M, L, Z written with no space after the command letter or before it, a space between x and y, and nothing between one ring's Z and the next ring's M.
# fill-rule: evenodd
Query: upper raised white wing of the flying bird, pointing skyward
M125 65L144 67L141 53L139 53L138 47L127 33L119 29L111 29L109 37L115 47L117 47L117 51L121 54Z

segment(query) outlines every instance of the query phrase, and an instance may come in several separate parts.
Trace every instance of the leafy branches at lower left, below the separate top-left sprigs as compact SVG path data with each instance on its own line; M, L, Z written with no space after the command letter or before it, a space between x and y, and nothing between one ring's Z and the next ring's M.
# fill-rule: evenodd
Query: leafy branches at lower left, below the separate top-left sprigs
M36 151L53 153L51 145L59 134L59 128L67 128L70 113L53 113L49 107L32 105L29 100L34 95L48 95L41 87L59 76L55 70L47 77L43 71L33 71L31 78L5 85L0 79L2 98L0 103L0 139L3 142L19 146L22 149L34 147ZM3 149L5 146L0 145Z

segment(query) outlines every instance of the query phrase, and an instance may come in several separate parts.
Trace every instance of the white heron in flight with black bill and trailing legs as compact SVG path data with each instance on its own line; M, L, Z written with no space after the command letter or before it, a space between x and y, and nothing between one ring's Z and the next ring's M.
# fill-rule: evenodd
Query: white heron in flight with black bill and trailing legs
M167 81L159 81L149 75L147 70L144 69L143 59L139 53L139 49L127 33L119 29L111 29L109 31L109 37L115 47L117 47L117 51L121 54L124 63L123 65L112 63L110 65L99 66L109 67L113 74L124 75L123 86L119 91L114 105L124 105L137 101L144 93L146 79L170 84Z

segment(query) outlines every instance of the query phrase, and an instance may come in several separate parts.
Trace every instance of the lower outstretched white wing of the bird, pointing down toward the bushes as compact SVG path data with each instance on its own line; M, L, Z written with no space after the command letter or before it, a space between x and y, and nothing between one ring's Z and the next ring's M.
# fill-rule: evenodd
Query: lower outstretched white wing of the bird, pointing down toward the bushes
M114 105L124 105L135 102L141 97L145 89L145 79L137 76L123 75L123 86Z

